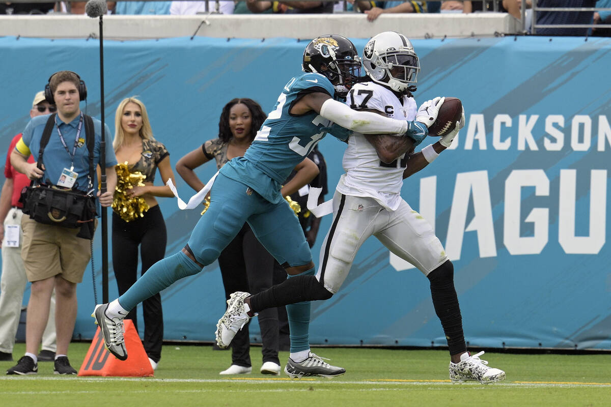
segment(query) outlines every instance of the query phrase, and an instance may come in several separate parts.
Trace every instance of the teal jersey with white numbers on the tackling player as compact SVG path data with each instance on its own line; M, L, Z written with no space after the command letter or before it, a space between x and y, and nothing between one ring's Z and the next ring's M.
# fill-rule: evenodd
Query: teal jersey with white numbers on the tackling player
M248 185L271 203L282 200L281 185L328 131L341 140L349 135L345 129L337 131L337 125L331 129L332 123L313 110L299 116L289 113L299 98L312 92L333 96L335 89L329 79L318 73L293 77L244 157L230 160L221 173Z

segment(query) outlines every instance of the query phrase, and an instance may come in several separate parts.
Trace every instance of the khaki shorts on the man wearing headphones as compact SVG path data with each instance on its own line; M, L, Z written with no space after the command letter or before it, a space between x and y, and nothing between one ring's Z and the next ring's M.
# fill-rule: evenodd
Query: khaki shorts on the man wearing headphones
M95 220L98 226L98 220ZM70 283L81 283L91 258L91 240L76 237L81 229L45 225L24 215L21 218L21 258L28 281L60 275Z

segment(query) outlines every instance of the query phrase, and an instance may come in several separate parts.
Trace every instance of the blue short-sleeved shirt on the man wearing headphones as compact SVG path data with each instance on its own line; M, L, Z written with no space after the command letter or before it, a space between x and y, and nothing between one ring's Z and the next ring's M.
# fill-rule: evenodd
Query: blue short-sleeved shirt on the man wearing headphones
M40 139L42 137L43 130L49 115L42 115L32 118L27 123L26 129L21 135L21 140L29 148L30 152L34 156L34 160L38 161L38 151L40 151ZM51 138L49 143L45 147L43 153L43 163L45 164L45 173L40 179L45 184L55 185L59 180L60 175L64 168L70 169L71 163L73 162L74 170L78 173L78 178L74 187L76 189L86 192L89 181L87 176L89 175L89 151L87 150L87 143L85 142L85 123L83 121L81 128L81 135L79 139L82 142L77 144L76 153L74 160L71 157L74 145L76 132L80 120L80 115L72 120L70 123L64 123L59 116L56 116L56 122L59 124L59 129L62 132L62 137L68 147L68 151L64 148L59 134L57 133L57 126L53 126L51 130ZM95 132L95 145L93 148L93 189L95 193L98 190L98 179L95 171L95 167L100 163L100 142L101 142L101 126L100 120L93 118L93 131ZM115 157L114 150L112 149L112 139L108 125L104 125L105 128L105 142L106 142L106 165L104 167L112 167L117 164L117 158ZM23 151L21 152L23 153Z

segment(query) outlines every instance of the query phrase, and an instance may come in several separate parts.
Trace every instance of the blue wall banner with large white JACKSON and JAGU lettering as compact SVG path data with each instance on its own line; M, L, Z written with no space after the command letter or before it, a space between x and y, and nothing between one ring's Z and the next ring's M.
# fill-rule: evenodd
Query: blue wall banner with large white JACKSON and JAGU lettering
M413 42L422 65L417 101L456 96L466 111L466 126L452 148L406 179L403 196L433 224L455 265L470 346L611 349L611 40ZM354 43L362 49L365 40ZM174 165L216 137L222 106L231 98L253 98L271 111L282 87L301 70L306 44L291 38L106 41L106 123L114 131L120 100L137 95ZM97 41L4 37L0 55L2 154L54 71L79 73L89 93L81 107L100 117ZM422 145L432 142L430 137ZM327 137L319 146L332 191L342 174L345 144ZM197 174L206 180L213 167L204 165ZM180 195L191 196L177 178ZM200 215L180 211L170 198L159 202L168 229L166 254L172 254L185 245ZM331 218L323 218L313 247L316 262L330 225ZM98 231L98 301L100 239ZM112 268L110 277L114 298ZM166 339L214 339L225 309L216 262L169 287L162 298ZM75 337L92 338L89 268L78 300ZM428 279L374 238L357 254L340 292L314 303L312 315L313 344L446 345ZM260 339L256 319L251 337Z

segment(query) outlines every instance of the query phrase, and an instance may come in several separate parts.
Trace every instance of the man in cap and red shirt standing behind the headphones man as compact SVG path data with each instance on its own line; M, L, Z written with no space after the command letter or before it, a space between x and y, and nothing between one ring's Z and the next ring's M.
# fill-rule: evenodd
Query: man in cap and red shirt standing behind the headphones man
M55 105L45 100L45 93L38 92L34 96L30 117L48 115L56 111ZM0 195L0 222L4 228L0 229L2 240L2 275L0 276L0 361L13 360L13 345L15 334L21 315L23 292L26 289L26 270L21 259L21 207L19 202L21 190L30 184L27 176L15 171L10 165L10 153L15 149L16 143L21 139L21 133L13 137L6 156L4 176L6 180L2 185ZM29 157L34 162L34 157ZM51 297L49 320L42 336L42 350L38 353L38 361L53 361L56 350L55 336L55 295Z

